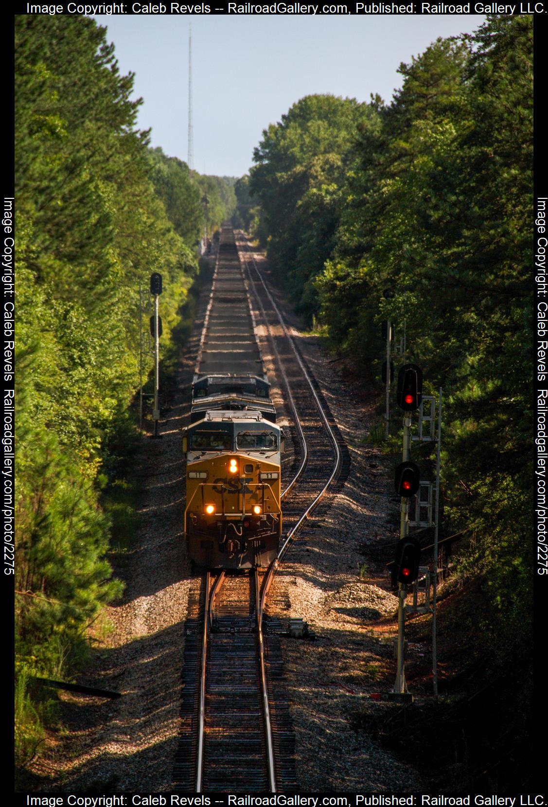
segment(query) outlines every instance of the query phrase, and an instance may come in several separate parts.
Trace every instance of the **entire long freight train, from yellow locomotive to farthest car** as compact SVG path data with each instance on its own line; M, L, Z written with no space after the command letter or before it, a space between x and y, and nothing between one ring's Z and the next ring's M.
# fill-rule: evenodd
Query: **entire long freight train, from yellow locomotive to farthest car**
M282 530L282 429L270 399L249 290L223 227L192 384L185 536L199 567L267 567Z

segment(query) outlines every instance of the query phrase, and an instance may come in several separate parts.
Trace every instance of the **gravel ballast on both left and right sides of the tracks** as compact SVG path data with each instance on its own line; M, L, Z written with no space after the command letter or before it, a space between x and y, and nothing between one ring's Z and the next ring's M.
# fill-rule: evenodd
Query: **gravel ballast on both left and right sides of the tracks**
M268 277L266 261L255 253ZM38 789L80 792L171 792L182 698L182 660L190 563L182 541L184 464L180 428L207 304L207 278L186 347L175 399L166 407L161 440L144 437L135 474L142 483L132 546L115 555L125 591L107 608L111 633L95 629L98 650L80 684L115 690L117 700L61 695L61 727L36 774ZM410 792L419 774L374 742L362 727L384 705L370 699L395 675L391 639L397 600L389 590L383 546L394 546L395 508L387 460L366 441L378 423L374 398L345 378L317 337L299 330L278 292L291 332L316 376L350 454L344 486L305 525L271 590L270 614L302 617L315 641L284 636L286 689L295 730L300 792ZM256 312L257 313L257 312ZM257 315L258 316L258 315ZM266 328L257 329L280 422L282 384ZM284 466L291 465L291 440Z

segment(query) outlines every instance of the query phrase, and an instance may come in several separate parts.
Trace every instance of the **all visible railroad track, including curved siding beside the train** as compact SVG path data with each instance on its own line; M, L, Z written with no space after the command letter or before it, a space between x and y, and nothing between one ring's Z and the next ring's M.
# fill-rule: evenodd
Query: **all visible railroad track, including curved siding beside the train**
M214 580L207 573L193 581L174 778L176 789L186 791L287 792L296 784L294 740L282 695L280 642L274 624L263 616L266 597L291 542L349 462L333 416L248 242L240 237L236 243L285 387L298 460L282 492L282 544L266 574L221 572Z

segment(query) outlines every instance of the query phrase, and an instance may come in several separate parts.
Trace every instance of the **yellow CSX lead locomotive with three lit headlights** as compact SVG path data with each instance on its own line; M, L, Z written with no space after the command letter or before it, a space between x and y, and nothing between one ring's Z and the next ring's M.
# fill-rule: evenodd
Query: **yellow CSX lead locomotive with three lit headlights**
M185 533L207 568L266 567L282 530L283 433L255 409L210 410L183 433Z

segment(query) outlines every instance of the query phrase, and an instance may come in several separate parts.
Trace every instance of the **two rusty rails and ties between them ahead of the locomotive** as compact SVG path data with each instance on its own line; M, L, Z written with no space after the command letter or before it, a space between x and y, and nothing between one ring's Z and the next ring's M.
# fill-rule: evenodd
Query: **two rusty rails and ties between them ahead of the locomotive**
M211 575L207 574L209 579ZM257 570L217 575L203 634L197 792L275 792Z

